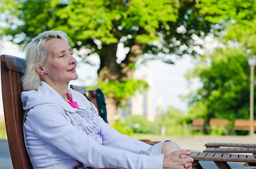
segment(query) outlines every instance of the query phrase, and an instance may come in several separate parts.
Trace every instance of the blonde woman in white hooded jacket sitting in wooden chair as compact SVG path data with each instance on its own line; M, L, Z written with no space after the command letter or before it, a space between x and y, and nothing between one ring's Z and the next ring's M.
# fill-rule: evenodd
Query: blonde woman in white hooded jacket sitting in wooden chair
M150 146L120 134L85 96L69 88L78 75L64 32L42 32L25 50L21 99L34 168L192 168L190 151L169 140Z

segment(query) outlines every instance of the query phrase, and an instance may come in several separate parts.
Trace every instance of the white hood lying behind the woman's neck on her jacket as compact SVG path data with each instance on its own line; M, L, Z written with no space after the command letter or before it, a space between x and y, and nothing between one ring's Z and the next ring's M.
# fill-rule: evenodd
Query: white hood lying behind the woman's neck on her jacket
M69 93L73 93L73 89L68 89ZM37 90L30 90L21 93L21 101L23 101L23 109L28 110L42 104L57 104L66 111L74 112L76 108L72 108L63 98L46 82L41 82Z

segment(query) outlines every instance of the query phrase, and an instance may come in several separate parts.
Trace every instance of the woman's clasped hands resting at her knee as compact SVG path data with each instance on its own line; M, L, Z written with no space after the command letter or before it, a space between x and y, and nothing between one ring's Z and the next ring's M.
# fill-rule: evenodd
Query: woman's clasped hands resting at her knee
M163 157L163 169L186 168L192 169L193 158L190 157L191 151L180 150Z

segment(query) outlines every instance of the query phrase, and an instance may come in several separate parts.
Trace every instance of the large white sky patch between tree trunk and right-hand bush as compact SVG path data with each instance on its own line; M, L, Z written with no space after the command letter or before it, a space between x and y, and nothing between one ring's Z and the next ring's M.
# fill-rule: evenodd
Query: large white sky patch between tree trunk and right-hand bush
M168 106L173 106L187 113L187 102L180 99L180 95L189 94L190 89L197 89L199 82L194 80L188 84L185 79L187 70L194 68L191 56L183 56L175 61L174 65L163 63L161 61L149 61L147 65L137 68L136 74L151 76L152 82L152 113L156 114L158 106L158 97L161 96L161 107L166 111Z

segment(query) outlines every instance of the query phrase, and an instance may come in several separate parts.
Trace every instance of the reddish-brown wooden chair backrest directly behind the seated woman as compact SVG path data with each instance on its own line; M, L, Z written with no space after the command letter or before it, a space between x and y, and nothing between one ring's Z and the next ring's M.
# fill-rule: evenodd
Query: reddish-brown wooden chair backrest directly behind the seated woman
M13 168L33 168L23 138L21 77L25 71L25 59L8 55L0 57L4 118Z

